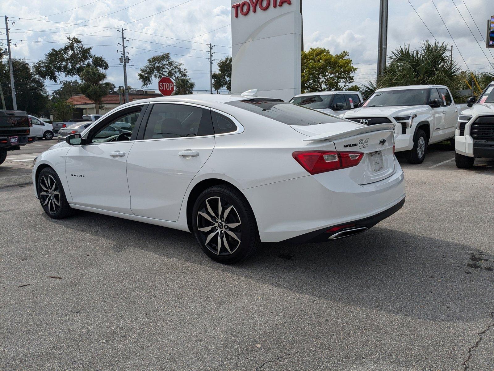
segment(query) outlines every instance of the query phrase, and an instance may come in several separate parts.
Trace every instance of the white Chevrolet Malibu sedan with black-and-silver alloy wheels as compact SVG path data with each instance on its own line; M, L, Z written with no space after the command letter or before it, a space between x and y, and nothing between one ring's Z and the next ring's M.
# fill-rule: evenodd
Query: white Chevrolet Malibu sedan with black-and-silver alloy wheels
M37 157L33 183L51 218L80 209L193 232L210 258L233 263L261 241L328 241L395 213L405 190L393 152L393 124L176 95L129 102L67 136Z

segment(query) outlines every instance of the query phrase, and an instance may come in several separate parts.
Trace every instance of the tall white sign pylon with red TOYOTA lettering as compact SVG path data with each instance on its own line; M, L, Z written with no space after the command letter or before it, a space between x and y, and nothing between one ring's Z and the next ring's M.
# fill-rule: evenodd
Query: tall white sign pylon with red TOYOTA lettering
M300 94L302 0L232 0L232 93Z

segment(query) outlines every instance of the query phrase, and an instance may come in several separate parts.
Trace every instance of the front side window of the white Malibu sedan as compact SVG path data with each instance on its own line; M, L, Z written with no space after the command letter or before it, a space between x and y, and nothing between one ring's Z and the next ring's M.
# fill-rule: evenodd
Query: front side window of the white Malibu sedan
M91 143L130 140L141 111L142 106L138 106L109 117L103 127L91 134Z

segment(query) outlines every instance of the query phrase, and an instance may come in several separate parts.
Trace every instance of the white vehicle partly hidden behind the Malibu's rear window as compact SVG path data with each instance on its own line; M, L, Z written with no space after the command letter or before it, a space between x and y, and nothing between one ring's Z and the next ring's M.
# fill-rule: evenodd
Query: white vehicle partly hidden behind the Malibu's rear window
M290 99L290 103L336 116L343 116L347 110L357 108L363 101L359 92L347 91L303 93Z

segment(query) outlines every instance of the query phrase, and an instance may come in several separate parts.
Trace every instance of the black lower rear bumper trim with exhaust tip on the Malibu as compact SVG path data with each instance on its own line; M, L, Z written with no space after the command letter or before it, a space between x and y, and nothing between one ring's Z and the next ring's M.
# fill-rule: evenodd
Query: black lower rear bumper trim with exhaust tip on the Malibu
M374 227L380 221L390 217L398 210L402 208L405 204L405 198L398 202L396 205L390 207L387 210L381 211L375 215L372 215L368 218L356 220L353 222L348 222L340 226L329 226L325 227L321 230L309 232L306 234L302 234L297 237L289 238L284 242L290 243L303 243L303 242L327 242L332 238L342 238L349 235L354 235L359 232L365 232L368 229ZM338 229L338 227L341 227ZM334 231L329 232L329 230L334 229Z

